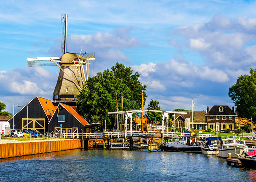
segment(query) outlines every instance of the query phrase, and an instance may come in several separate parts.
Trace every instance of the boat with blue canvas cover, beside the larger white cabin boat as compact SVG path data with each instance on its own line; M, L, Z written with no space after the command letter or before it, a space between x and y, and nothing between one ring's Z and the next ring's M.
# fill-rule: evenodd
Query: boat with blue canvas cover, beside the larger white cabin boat
M200 146L202 154L217 155L219 153L219 151L217 150L218 141L220 140L221 140L221 137L207 137Z

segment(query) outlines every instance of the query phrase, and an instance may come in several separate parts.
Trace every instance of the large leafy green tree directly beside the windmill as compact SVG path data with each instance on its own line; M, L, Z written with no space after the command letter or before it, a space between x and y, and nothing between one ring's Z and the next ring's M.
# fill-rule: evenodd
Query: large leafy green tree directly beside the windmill
M113 128L116 115L108 112L116 111L116 93L118 111L121 111L121 88L123 88L123 110L139 110L142 105L142 91L146 102L146 85L139 81L140 74L116 63L111 70L89 78L78 96L79 113L90 123L106 120L106 125ZM120 117L120 116L119 116ZM119 118L119 120L121 120Z

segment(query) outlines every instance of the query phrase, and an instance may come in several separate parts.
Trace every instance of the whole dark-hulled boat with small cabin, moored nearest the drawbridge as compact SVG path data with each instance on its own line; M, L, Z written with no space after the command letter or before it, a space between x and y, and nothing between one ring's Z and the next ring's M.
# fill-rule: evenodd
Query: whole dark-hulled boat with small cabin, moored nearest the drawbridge
M195 136L182 136L176 141L165 142L163 145L165 151L202 153Z

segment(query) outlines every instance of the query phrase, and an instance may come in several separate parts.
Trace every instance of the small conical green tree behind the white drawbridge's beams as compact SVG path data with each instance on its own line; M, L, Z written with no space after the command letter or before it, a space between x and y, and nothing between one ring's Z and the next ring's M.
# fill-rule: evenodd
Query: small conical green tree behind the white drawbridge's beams
M147 105L147 110L158 110L161 111L159 102L157 100L151 99L150 103ZM161 112L147 112L146 117L151 123L162 124L162 114Z

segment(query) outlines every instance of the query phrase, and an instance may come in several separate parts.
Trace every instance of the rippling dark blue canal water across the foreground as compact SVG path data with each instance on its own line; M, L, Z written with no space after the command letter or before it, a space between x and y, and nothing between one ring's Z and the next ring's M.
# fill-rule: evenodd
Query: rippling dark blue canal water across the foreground
M0 181L255 181L256 169L225 159L145 150L70 150L0 160Z

